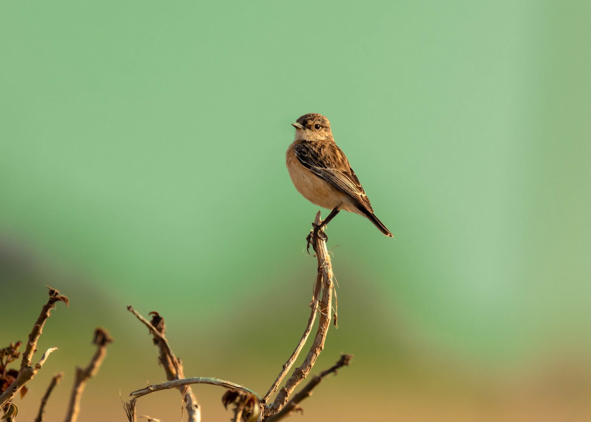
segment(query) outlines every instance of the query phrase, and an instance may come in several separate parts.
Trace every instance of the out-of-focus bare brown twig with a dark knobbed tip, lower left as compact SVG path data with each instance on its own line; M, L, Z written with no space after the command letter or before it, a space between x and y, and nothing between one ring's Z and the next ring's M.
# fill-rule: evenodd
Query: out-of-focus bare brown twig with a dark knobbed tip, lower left
M93 343L96 345L95 355L90 359L90 363L85 369L76 368L76 379L74 380L74 387L70 395L70 405L66 414L66 422L75 422L80 413L80 400L82 399L82 392L86 387L86 382L96 375L99 371L100 365L107 354L107 345L113 342L109 333L102 328L95 330L95 338Z

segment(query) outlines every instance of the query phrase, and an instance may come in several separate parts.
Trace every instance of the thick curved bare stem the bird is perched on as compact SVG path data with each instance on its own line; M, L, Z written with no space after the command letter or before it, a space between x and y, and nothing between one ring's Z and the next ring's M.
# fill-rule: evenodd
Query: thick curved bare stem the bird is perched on
M314 224L320 224L320 211L316 214ZM272 404L269 404L265 409L267 417L277 414L285 404L287 404L294 389L296 389L297 385L300 384L300 382L310 373L314 366L314 362L316 362L316 358L318 358L320 352L324 349L324 341L326 340L326 335L330 326L333 291L332 264L330 264L330 256L326 249L326 240L324 240L324 236L313 236L312 242L318 259L319 277L320 280L322 280L322 292L320 292L322 293L322 298L320 299L318 309L320 311L318 330L304 362L296 368L290 378L287 379L284 387L282 387L277 394L275 401Z

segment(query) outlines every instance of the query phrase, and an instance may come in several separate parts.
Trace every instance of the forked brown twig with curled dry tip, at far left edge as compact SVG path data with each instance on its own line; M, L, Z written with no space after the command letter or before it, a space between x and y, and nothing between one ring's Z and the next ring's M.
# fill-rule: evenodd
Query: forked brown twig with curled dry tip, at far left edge
M37 318L37 321L35 321L33 330L31 330L31 333L29 334L27 346L22 353L21 369L18 371L16 379L2 394L0 394L0 408L3 408L5 404L11 401L14 395L17 394L27 382L31 381L35 375L37 375L37 371L41 369L47 356L49 356L54 350L57 350L57 348L48 349L43 354L40 361L35 366L31 366L33 354L37 351L37 341L41 336L41 332L43 332L43 326L49 318L51 310L56 307L56 303L59 301L66 303L66 306L68 304L68 298L66 296L60 296L60 292L52 287L48 286L48 288L49 300L43 306L43 309L41 309L41 314Z

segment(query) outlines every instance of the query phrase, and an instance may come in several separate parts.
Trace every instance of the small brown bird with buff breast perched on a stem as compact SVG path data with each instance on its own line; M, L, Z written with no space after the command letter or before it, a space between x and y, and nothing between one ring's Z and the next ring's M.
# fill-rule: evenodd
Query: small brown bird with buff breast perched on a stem
M291 125L296 128L296 139L287 148L286 154L291 181L304 198L332 209L327 218L314 228L314 235L343 209L367 217L386 236L394 237L374 215L374 209L349 160L335 144L329 119L310 113Z

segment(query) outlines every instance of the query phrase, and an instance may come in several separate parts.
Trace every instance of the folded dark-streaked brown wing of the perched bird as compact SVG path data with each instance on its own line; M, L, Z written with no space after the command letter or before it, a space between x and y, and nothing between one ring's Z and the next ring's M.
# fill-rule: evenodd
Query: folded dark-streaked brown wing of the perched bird
M361 207L374 212L355 171L336 144L313 144L304 141L294 145L294 151L301 165L352 197Z

